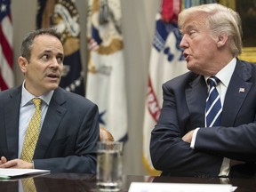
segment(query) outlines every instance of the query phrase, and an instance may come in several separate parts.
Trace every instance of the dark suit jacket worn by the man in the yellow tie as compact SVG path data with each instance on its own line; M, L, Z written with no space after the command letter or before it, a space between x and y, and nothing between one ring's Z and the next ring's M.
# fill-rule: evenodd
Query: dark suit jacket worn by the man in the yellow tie
M18 158L20 100L21 86L0 92L0 156L7 160ZM90 100L56 89L37 141L35 168L95 173L98 117Z

